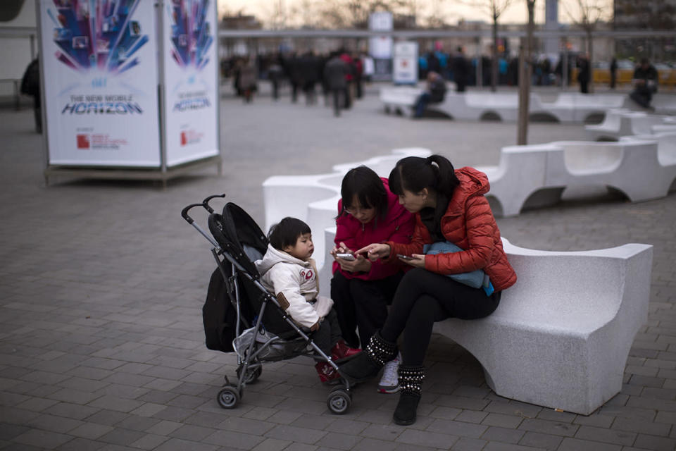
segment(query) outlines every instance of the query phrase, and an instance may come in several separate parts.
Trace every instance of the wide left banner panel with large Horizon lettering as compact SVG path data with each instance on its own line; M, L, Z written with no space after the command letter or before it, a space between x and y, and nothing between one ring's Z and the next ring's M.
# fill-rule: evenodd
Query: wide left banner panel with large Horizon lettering
M153 4L39 1L49 164L160 166Z

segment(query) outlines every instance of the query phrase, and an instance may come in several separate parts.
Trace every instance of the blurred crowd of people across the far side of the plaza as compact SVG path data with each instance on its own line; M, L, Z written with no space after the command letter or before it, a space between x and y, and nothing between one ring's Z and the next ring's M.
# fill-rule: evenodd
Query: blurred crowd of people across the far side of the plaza
M536 55L530 61L530 65L532 68L531 85L562 86L564 83L567 85L577 83L580 92L584 94L590 92L592 68L589 57L585 53L561 54L556 59L556 63L551 56ZM342 109L350 109L353 101L361 99L363 83L370 80L374 73L374 66L373 58L363 52L344 49L324 55L315 54L313 51L286 52L259 54L256 58L233 56L224 59L221 61L221 75L223 78L232 79L237 95L241 96L244 101L248 102L253 99L253 94L257 91L258 80L269 80L273 99L279 99L282 83L289 85L291 100L294 103L298 101L299 94L302 93L307 104L315 104L318 92L321 92L325 96L325 104L332 104L335 116L340 116ZM518 86L518 57L510 57L503 52L499 54L497 66L496 85ZM615 89L618 80L618 63L615 58L611 61L609 69L609 87ZM641 69L641 65L638 65L637 70L641 72L641 70L648 69ZM656 73L654 68L652 71ZM654 75L653 78L657 76ZM486 55L469 58L465 56L462 47L446 53L437 46L420 54L418 79L427 80L427 85L430 84L430 80L454 82L457 92L464 92L468 86L490 86L492 85L492 58ZM652 85L651 92L649 89L639 87L637 91L640 91L641 99L646 100L637 101L637 103L649 104L649 97L655 90ZM430 89L428 91L432 93ZM639 94L634 94L632 98L638 98ZM424 109L426 102L439 101L439 97L435 91L432 97L419 99L418 106Z

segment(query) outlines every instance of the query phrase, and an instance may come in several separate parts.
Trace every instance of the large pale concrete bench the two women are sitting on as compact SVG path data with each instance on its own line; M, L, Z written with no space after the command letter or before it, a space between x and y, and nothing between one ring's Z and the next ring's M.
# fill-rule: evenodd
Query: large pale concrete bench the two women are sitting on
M336 228L325 230L332 245ZM482 365L494 392L588 415L622 389L630 347L646 322L652 246L546 252L503 238L518 280L476 321L434 325ZM330 295L331 265L319 271Z

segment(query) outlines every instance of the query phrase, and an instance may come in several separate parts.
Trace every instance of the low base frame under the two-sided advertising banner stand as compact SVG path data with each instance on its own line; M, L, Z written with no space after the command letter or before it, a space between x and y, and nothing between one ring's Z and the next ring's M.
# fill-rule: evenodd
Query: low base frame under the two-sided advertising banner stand
M161 171L159 168L104 168L94 166L47 166L44 170L44 183L49 186L49 179L56 177L94 178L101 180L161 180L162 189L167 187L167 180L181 177L196 169L216 166L218 175L223 175L220 155L206 159L190 161Z

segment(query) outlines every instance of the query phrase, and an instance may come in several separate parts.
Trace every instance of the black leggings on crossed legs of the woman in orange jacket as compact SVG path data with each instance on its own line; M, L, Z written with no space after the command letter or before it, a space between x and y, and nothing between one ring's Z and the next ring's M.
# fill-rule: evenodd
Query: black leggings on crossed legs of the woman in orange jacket
M495 311L499 302L500 292L487 296L482 288L471 288L448 276L413 268L399 283L380 335L396 342L403 332L403 365L423 366L436 321L484 318Z

